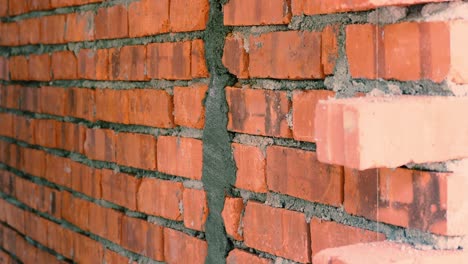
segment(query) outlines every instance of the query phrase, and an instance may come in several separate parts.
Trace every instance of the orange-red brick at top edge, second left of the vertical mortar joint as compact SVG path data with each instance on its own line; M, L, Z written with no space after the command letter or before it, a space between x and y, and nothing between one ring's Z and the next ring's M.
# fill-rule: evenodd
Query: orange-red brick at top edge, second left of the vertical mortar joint
M130 37L169 31L169 0L142 0L128 6Z

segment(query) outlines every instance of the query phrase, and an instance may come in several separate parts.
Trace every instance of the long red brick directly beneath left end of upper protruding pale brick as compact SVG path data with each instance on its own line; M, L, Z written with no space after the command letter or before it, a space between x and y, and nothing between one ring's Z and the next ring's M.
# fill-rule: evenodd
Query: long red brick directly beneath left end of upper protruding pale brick
M343 168L322 164L315 152L272 146L267 149L267 183L272 191L340 206Z

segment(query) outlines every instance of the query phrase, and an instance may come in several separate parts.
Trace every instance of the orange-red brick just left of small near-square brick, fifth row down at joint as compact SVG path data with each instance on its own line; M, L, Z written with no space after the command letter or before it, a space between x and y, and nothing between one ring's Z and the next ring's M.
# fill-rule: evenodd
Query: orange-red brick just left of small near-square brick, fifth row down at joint
M138 211L180 221L183 191L181 182L143 178L138 189Z

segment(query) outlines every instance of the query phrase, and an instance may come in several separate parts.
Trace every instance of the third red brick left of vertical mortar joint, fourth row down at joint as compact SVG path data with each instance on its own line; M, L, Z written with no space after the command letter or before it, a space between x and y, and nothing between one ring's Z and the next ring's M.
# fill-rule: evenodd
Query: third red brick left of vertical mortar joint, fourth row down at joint
M90 159L115 161L115 134L109 129L86 130L84 152Z

